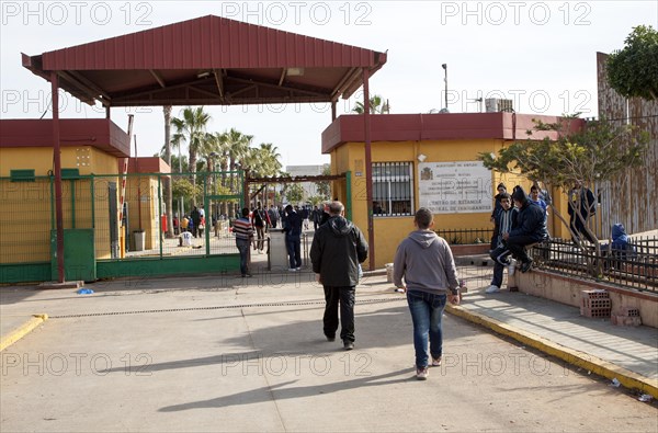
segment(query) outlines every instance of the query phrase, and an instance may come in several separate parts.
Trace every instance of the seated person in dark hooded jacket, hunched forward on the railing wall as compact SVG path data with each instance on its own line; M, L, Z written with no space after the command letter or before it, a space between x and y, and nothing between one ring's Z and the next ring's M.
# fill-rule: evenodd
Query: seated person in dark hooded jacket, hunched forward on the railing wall
M521 272L525 273L532 266L532 259L527 255L525 247L541 242L548 237L546 216L540 206L530 203L521 186L514 189L512 200L514 206L519 208L517 224L509 232L502 233L506 251L498 254L495 260L507 266L510 264L508 255L512 254L521 262Z

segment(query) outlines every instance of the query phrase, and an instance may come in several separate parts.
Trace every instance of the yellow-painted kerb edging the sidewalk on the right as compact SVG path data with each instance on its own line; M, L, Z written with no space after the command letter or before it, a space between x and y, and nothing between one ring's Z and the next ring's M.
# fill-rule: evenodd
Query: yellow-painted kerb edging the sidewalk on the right
M599 376L603 376L609 379L616 378L620 381L620 384L622 384L626 388L636 388L645 394L653 396L654 398L658 398L657 379L644 377L637 373L631 372L626 368L603 361L597 356L592 356L583 352L565 347L543 337L511 327L499 320L491 319L490 317L478 315L477 312L467 311L462 307L447 305L446 311L455 316L462 317L474 323L478 323L486 328L489 328L497 333L511 337L512 339L522 342L525 345L537 349L544 353L566 361L571 365L586 368L589 372L592 372Z

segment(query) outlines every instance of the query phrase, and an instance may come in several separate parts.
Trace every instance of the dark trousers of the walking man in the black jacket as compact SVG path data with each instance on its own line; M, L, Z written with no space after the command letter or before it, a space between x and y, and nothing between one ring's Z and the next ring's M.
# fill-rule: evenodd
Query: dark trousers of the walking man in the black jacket
M354 342L354 299L355 287L331 287L325 286L325 335L334 338L338 329L338 305L340 303L340 339L345 342Z

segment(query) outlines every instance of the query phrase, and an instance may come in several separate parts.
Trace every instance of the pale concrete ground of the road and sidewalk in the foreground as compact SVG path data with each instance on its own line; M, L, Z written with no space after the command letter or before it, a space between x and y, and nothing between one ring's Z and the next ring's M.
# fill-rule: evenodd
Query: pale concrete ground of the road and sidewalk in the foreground
M486 295L490 267L461 266L469 290L445 317L444 365L423 384L404 295L385 275L359 286L356 349L344 352L321 335L313 275L259 266L253 278L101 282L88 286L93 295L3 287L2 335L33 314L49 319L1 353L1 430L658 430L655 403L530 349L577 351L650 386L653 328L521 293Z

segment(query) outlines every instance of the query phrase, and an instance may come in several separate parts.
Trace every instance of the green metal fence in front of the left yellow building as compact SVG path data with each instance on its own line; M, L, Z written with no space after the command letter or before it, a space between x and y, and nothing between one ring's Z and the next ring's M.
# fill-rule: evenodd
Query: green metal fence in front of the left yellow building
M238 269L230 223L242 205L242 175L80 175L63 170L67 280ZM0 178L0 283L53 280L57 275L54 178ZM185 229L183 218L190 220Z

